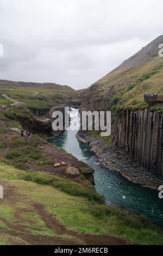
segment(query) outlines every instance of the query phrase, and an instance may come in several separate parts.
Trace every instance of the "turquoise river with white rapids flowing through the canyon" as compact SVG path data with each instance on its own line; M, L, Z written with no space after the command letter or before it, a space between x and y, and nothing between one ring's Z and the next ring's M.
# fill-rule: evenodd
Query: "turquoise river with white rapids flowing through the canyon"
M73 109L70 114L71 124L78 121L78 110ZM98 158L91 152L89 145L78 141L77 130L61 133L49 142L65 149L95 169L96 190L106 199L106 204L125 208L136 214L146 215L150 220L163 227L163 199L158 193L130 182L121 174L106 169L99 163Z

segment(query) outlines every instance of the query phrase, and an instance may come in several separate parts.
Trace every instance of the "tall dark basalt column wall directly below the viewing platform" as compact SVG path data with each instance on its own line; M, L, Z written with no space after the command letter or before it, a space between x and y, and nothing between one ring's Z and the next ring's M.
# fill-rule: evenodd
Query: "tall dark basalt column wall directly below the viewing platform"
M112 127L112 149L123 150L149 172L163 176L163 115L124 110Z

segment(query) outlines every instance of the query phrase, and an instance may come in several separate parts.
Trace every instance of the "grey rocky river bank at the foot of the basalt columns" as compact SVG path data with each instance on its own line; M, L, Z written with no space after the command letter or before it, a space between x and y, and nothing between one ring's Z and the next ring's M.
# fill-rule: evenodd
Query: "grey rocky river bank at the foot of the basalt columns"
M83 131L78 131L76 137L79 141L91 146L91 150L97 155L99 162L101 162L104 167L120 173L135 184L151 188L155 191L158 191L159 186L163 184L161 178L137 166L123 152L110 150L105 139L94 138L91 136L91 132Z

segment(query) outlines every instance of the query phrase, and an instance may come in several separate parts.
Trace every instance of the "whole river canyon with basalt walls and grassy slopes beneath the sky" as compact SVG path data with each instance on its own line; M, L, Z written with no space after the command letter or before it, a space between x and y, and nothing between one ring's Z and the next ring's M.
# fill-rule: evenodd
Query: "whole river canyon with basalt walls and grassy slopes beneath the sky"
M0 81L0 229L10 235L5 243L163 243L161 228L151 222L162 225L163 105L143 100L145 93L163 90L161 41L163 36L80 92L54 83ZM11 99L19 104L12 106ZM80 113L111 111L111 136L53 131L53 112L64 116L65 106ZM21 129L32 138L21 137Z

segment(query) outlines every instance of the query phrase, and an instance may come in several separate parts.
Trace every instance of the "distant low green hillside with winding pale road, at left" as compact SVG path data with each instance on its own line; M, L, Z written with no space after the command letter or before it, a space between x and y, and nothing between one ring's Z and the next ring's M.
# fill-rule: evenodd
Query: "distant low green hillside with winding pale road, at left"
M68 86L55 83L28 83L0 80L0 105L12 103L4 99L6 94L22 106L47 108L66 102L78 102L80 93ZM14 102L13 101L13 102Z

